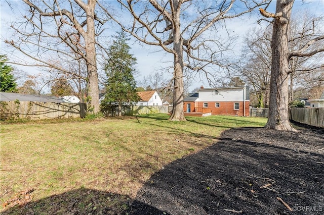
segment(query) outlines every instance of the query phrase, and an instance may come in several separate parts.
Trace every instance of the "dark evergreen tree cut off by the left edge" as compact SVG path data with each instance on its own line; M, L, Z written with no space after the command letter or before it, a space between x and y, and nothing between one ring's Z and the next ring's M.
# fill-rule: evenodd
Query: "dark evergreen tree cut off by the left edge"
M1 92L16 92L17 83L12 71L12 66L6 65L8 61L6 55L0 55L0 91Z

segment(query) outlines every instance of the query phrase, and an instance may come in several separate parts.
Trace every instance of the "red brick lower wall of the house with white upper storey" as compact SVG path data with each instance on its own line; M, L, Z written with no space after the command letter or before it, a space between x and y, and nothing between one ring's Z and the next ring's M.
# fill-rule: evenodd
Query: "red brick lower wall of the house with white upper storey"
M239 110L234 110L234 102L239 103ZM202 109L204 108L203 101L196 102L197 108ZM244 116L244 105L243 101L220 101L218 102L220 104L219 108L215 107L215 101L209 101L208 108L211 109L212 115L233 115L233 116ZM249 108L249 101L245 102L245 116L248 117L250 115L250 108ZM192 106L192 104L191 104ZM187 108L187 106L186 106ZM191 108L192 110L192 108Z

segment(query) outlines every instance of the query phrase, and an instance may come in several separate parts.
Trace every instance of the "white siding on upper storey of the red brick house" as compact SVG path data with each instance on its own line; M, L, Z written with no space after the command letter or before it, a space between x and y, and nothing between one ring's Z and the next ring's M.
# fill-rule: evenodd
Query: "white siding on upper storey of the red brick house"
M200 89L197 101L243 101L244 97L244 88Z

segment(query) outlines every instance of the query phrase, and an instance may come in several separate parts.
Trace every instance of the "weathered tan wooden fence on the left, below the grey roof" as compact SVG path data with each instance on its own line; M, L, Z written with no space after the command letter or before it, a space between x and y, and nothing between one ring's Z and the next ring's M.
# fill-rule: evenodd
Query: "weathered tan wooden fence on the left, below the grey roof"
M1 101L1 120L10 118L55 119L85 117L85 103L53 103L34 101Z

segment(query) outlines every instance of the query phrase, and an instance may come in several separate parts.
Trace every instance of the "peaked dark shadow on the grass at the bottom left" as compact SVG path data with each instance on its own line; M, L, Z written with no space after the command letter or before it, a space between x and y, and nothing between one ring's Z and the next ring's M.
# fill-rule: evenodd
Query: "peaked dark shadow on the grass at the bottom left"
M130 202L125 195L79 188L16 205L1 214L138 214L137 208L146 208L152 214L167 214L142 202L133 202L135 206Z

